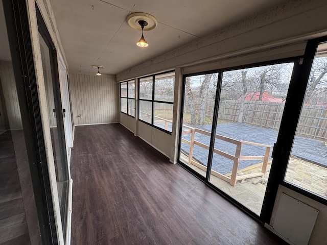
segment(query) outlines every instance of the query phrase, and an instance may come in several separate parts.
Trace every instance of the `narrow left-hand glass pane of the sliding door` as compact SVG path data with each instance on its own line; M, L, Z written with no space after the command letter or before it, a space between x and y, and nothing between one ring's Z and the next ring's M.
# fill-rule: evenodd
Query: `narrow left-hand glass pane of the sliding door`
M188 76L184 79L179 159L205 177L209 159L209 145L218 73Z

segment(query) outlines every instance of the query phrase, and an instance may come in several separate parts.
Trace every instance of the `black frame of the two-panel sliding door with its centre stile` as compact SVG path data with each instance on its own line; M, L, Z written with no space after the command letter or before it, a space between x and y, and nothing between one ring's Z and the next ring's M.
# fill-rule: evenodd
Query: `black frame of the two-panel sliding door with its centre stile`
M211 188L216 190L218 193L223 195L231 203L237 205L243 211L249 213L252 217L254 217L255 219L260 220L261 222L268 223L269 220L270 220L271 213L272 213L272 208L273 208L273 205L274 205L274 200L275 200L277 189L278 189L278 185L280 183L279 180L281 179L281 176L282 176L282 179L284 180L285 172L284 172L284 174L283 173L281 174L280 172L278 173L276 170L274 170L273 172L270 170L270 175L269 175L269 178L268 178L267 188L266 188L266 192L265 192L264 203L263 203L263 207L262 207L262 211L261 211L260 215L258 215L256 213L254 213L253 211L249 210L243 204L241 204L237 200L233 199L227 193L225 193L224 191L222 191L221 189L219 189L218 187L213 185L211 182L209 182L210 175L211 175L213 152L214 152L214 141L215 141L214 136L216 134L217 119L218 119L218 113L219 113L218 108L219 108L219 101L220 101L220 92L221 92L221 86L222 86L223 72L231 71L231 70L237 70L237 69L243 69L243 68L265 66L265 65L274 65L274 64L281 64L281 63L294 63L293 70L292 70L292 76L291 76L291 80L290 80L290 85L289 85L289 89L288 89L287 96L286 96L286 103L290 103L289 101L293 100L293 96L294 96L293 89L294 89L294 87L297 86L297 78L298 78L297 73L298 73L298 70L299 70L298 66L299 66L299 63L301 62L301 58L302 57L291 57L291 58L271 60L271 61L265 61L265 62L259 62L259 63L251 63L251 64L246 64L246 65L241 65L241 66L233 66L233 67L222 68L222 69L217 69L217 70L210 70L210 71L205 71L205 72L197 72L197 73L194 73L194 74L183 74L182 91L181 91L182 94L181 94L181 110L180 110L180 126L179 126L177 163L179 165L181 165L182 167L184 167L185 169L189 170L193 175L195 175L197 178L202 180L205 184L207 184L208 186L210 186ZM211 141L210 141L210 145L209 145L209 156L208 156L208 163L207 163L207 169L206 169L206 176L203 177L200 174L198 174L195 170L193 170L192 168L190 168L189 166L187 166L186 164L184 164L183 162L180 161L180 148L181 148L181 135L182 135L181 132L182 132L183 110L184 110L184 99L185 99L185 97L184 97L184 94L185 94L185 78L190 77L190 76L214 73L214 72L218 72L219 76L218 76L218 83L217 83L217 90L216 90L216 99L215 99L214 115L213 115L213 125L212 125L212 132L211 132ZM285 107L286 107L286 104L285 104ZM286 111L284 109L284 113L283 113L282 120L281 120L281 127L279 128L279 131L278 131L276 144L278 142L281 142L280 138L282 137L282 135L285 134L284 127L285 127L285 124L287 123L287 118L285 118L285 114L286 114ZM282 125L283 125L283 128L282 128ZM275 152L276 152L276 150L273 150L273 160L272 160L271 166L278 165L278 164L276 164L276 162L278 162L279 159L278 158L275 159L275 157L274 157ZM285 167L285 171L286 171L286 167ZM274 176L274 177L272 177L272 176ZM276 182L276 180L278 180L278 181ZM272 204L272 206L269 205L269 204ZM267 219L269 219L269 220L267 220Z

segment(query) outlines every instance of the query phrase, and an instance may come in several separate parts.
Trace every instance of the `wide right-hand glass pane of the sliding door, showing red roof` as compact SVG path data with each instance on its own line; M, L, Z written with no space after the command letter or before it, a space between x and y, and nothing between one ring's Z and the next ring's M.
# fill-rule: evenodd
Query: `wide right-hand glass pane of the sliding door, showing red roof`
M222 72L209 182L260 215L293 63Z

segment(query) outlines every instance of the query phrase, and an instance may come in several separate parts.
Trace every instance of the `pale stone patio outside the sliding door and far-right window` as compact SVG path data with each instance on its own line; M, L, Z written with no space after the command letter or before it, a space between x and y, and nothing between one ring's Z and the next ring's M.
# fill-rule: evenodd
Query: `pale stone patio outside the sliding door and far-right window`
M194 165L188 166L205 176L205 170ZM237 182L234 187L215 176L211 176L211 182L232 198L242 203L248 209L260 215L270 167L271 161L268 163L265 176L245 179L242 182ZM238 175L250 175L252 173L257 173L260 170L261 166L244 169L240 170ZM304 160L291 158L286 180L327 198L327 168L325 167Z

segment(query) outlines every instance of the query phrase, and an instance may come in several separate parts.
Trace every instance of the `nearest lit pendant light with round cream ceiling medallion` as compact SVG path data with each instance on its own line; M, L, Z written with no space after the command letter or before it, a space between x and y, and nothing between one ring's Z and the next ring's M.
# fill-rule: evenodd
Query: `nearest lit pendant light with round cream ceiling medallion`
M147 47L149 44L143 36L143 31L153 30L158 24L157 19L147 13L132 13L127 16L126 21L131 28L139 31L142 30L141 39L139 39L136 45L140 47Z

